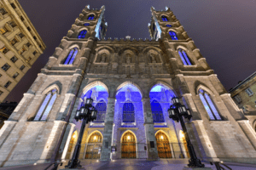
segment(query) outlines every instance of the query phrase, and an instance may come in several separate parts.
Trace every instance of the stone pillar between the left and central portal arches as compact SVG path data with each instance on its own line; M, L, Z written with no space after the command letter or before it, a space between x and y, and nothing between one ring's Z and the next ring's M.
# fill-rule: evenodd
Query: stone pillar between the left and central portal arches
M100 161L110 161L115 98L108 98Z

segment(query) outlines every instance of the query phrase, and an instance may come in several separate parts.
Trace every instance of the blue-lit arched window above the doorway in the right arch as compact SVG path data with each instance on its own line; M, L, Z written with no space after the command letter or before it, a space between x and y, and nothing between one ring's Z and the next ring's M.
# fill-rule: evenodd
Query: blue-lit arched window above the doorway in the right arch
M151 111L153 116L153 122L165 122L162 107L159 102L153 100L151 102Z

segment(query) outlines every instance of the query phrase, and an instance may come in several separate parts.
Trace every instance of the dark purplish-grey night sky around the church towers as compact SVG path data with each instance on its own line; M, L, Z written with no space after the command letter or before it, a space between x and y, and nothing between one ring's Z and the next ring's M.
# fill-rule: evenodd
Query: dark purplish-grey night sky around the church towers
M249 77L256 64L255 0L19 0L46 49L6 100L19 102L85 5L105 5L107 36L149 38L150 7L171 8L201 54L229 90Z

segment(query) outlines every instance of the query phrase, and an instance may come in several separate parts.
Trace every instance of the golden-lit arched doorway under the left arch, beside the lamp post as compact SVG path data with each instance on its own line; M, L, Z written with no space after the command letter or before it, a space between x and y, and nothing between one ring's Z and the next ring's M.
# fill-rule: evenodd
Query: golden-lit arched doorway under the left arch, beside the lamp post
M102 134L92 133L86 147L85 159L99 159L102 152Z

